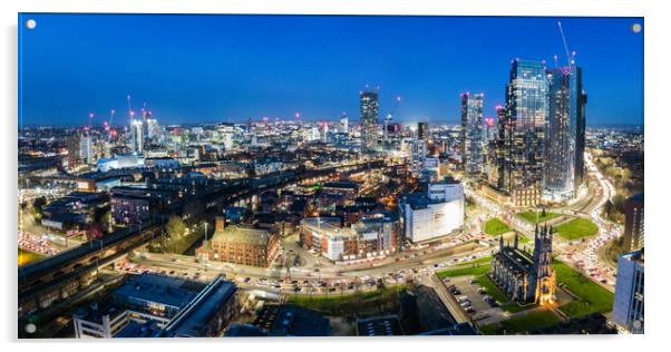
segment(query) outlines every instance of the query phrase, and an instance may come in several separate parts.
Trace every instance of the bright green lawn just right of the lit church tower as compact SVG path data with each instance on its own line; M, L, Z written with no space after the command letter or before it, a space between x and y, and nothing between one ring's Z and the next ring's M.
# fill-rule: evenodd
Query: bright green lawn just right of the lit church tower
M560 307L566 315L575 317L613 310L613 293L562 262L554 261L553 265L557 274L557 284L564 283L568 291L581 299Z

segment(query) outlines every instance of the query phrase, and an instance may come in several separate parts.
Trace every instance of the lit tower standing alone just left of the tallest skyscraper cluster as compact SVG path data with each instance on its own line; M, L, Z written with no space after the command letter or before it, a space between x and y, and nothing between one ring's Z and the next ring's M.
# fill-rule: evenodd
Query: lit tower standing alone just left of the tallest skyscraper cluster
M468 176L483 173L483 94L461 94L461 165Z

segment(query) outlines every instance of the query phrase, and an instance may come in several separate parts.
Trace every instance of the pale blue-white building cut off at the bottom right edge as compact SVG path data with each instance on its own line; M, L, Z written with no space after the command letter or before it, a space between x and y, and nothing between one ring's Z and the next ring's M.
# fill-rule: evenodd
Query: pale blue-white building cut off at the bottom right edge
M613 302L613 322L625 332L642 334L644 248L620 256Z

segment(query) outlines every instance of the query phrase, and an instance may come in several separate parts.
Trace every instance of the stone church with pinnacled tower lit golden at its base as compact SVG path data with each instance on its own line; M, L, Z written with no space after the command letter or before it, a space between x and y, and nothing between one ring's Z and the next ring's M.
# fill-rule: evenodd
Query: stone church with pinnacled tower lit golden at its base
M552 266L553 229L547 225L534 232L534 252L519 248L516 233L513 246L499 239L499 251L492 260L489 276L513 301L521 303L552 303L556 277Z

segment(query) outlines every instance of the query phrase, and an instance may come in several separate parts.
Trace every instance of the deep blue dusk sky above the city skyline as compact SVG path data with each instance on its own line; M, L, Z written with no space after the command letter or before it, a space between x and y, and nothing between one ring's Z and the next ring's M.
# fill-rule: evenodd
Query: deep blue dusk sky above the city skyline
M26 29L28 19L37 27ZM380 87L380 115L456 123L459 94L504 104L514 58L577 52L587 125L643 123L639 18L21 14L19 124L128 120L146 102L161 124L268 116L359 119L359 91ZM644 30L644 29L643 29ZM116 125L116 124L115 124Z

